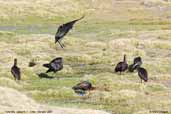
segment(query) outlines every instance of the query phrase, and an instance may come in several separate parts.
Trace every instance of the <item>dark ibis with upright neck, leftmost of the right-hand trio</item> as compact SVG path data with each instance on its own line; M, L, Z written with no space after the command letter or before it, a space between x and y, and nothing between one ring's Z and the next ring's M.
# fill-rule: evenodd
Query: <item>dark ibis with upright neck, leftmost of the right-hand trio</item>
M115 67L115 72L124 72L128 69L128 64L127 64L127 61L126 61L126 55L124 55L124 59L123 61L119 62L116 67Z

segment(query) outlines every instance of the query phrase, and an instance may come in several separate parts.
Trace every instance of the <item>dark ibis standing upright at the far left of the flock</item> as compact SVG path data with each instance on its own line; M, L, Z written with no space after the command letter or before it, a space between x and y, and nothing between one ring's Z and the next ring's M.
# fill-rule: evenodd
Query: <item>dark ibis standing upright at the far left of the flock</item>
M14 59L14 65L11 67L11 73L14 76L15 80L20 80L21 79L21 73L20 73L20 68L17 67L17 59Z

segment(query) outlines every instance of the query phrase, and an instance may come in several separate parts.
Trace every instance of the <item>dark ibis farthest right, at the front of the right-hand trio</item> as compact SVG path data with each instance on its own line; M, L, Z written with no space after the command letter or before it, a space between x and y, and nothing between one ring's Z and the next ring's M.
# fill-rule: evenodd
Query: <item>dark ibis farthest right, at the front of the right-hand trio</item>
M141 83L142 83L142 80L144 80L144 82L147 82L148 81L148 72L147 72L147 70L138 65L137 66L137 71L138 71L138 76L141 79Z

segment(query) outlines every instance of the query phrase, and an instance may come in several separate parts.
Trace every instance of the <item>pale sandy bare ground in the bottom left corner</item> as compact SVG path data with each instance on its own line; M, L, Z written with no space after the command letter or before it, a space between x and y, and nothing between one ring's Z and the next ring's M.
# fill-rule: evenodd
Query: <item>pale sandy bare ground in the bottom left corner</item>
M44 114L108 114L106 112L90 109L75 109L75 108L61 108L45 106L35 103L26 95L14 89L0 87L1 94L0 100L0 113L44 113ZM11 98L11 99L9 99ZM20 98L20 100L18 100Z

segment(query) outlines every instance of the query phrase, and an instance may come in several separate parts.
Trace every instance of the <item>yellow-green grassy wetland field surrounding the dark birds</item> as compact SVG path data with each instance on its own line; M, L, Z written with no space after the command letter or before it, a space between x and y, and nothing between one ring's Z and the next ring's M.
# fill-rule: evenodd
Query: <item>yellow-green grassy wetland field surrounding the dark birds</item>
M26 94L41 104L105 110L113 114L171 114L171 2L162 0L0 0L0 86ZM64 38L61 23L86 15ZM137 73L114 73L127 55L143 59L149 82ZM43 63L64 58L53 79L39 78ZM10 73L18 58L22 81ZM34 60L37 65L28 67ZM80 97L72 86L89 80L96 90Z

